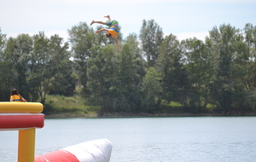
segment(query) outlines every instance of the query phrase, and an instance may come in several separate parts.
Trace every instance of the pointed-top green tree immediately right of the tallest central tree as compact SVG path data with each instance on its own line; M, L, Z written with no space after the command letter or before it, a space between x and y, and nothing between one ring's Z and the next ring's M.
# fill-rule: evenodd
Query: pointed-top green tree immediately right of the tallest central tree
M183 69L183 52L176 36L166 36L160 44L157 60L163 85L163 99L188 105L188 78Z

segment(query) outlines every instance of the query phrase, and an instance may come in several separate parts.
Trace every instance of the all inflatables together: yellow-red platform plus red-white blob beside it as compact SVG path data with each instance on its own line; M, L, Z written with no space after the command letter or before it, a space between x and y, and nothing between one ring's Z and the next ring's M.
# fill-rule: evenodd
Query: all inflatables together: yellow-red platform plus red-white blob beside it
M109 162L107 139L82 142L35 157L36 129L44 127L44 106L36 102L0 102L0 130L18 130L18 162Z

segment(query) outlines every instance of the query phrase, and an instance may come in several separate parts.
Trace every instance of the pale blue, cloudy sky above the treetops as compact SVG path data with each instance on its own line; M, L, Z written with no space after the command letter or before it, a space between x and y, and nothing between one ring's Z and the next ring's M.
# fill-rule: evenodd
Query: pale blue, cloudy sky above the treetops
M143 20L154 20L165 35L179 40L204 40L213 26L230 24L242 29L256 26L255 0L0 0L0 28L7 38L21 33L59 34L67 41L67 30L79 22L119 20L124 38L140 32ZM96 29L97 25L92 27Z

